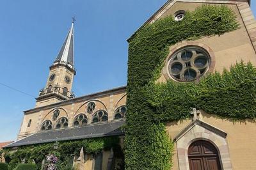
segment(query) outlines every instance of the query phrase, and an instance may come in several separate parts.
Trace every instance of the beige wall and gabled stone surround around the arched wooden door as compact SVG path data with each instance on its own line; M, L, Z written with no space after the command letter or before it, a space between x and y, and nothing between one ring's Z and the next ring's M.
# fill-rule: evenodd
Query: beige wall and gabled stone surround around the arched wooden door
M204 139L211 141L220 151L223 169L254 169L256 158L254 157L256 147L253 147L255 135L255 121L230 121L223 120L214 114L202 112L202 121L224 133L227 137L216 133L214 130L209 130L198 123L193 124L184 134L177 137L182 130L186 129L193 120L173 121L167 123L166 130L171 139L175 139L175 154L173 155L173 169L189 169L188 165L180 167L180 164L185 164L188 159L188 146L193 141ZM248 137L250 135L250 137ZM176 139L177 138L177 139ZM183 158L182 158L183 157Z

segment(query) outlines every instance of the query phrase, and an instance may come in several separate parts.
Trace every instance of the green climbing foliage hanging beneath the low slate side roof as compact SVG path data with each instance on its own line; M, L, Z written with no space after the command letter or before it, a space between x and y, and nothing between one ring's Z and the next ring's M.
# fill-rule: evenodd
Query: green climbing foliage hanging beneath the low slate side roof
M23 158L25 158L26 163L35 161L37 168L40 169L42 160L50 153L54 153L59 158L58 169L70 169L72 168L72 156L78 156L82 147L85 153L97 154L102 150L118 147L118 143L119 139L116 136L100 137L79 141L61 141L58 150L53 149L54 143L45 143L35 146L21 146L15 152L9 150L5 150L5 152L6 158L10 160L8 162L9 169L15 169Z

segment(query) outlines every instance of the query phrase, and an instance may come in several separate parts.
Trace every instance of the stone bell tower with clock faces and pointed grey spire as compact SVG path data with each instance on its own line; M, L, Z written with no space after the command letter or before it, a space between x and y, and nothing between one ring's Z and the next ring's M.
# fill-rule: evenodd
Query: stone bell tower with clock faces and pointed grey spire
M56 60L50 66L45 88L36 98L36 107L74 98L72 82L76 75L74 68L74 21L68 31Z

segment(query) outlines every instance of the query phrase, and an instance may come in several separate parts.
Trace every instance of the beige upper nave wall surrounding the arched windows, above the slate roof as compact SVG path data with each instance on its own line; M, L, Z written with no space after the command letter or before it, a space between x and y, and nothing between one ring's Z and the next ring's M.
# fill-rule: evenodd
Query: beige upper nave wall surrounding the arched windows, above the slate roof
M95 109L92 113L88 113L86 111L89 102L95 103ZM93 115L99 110L106 111L108 113L108 121L112 121L113 116L115 116L116 109L125 105L125 102L126 88L121 87L92 95L86 95L84 97L72 98L42 107L36 107L35 109L24 112L24 118L20 127L18 139L40 132L42 123L45 120L51 120L52 129L54 129L58 118L64 117L68 120L68 127L73 127L74 118L81 113L87 116L88 124L92 123ZM56 109L60 111L60 115L56 120L52 120L52 114ZM31 120L31 124L28 127L29 120Z

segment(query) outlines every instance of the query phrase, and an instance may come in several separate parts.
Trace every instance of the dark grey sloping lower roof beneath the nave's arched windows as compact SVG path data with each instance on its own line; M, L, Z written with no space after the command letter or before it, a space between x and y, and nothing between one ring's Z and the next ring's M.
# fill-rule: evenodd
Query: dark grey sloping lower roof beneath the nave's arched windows
M108 123L93 123L83 127L63 128L60 130L47 130L29 135L24 139L20 139L4 148L15 146L24 146L29 144L51 143L55 141L69 141L75 139L86 139L93 137L106 137L112 135L124 135L121 130L125 121L111 121Z

